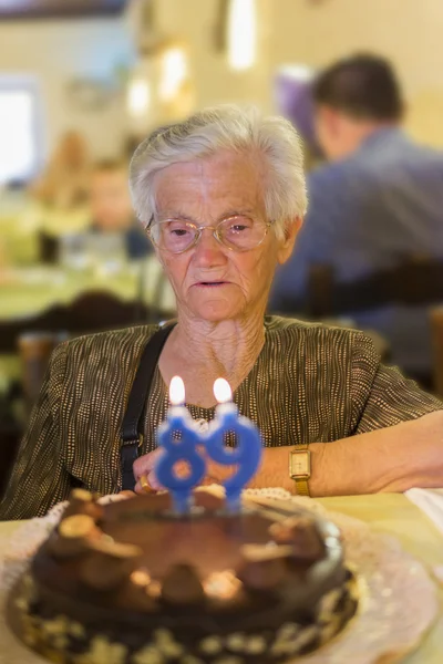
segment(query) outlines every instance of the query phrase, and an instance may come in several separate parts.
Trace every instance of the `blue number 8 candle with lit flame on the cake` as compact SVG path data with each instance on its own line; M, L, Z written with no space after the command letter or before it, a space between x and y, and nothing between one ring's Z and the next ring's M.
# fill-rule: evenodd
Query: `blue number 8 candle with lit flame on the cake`
M155 466L158 481L168 489L174 509L184 513L190 508L192 490L206 474L206 464L197 452L200 444L198 427L184 406L185 386L179 376L174 376L169 385L171 408L167 417L157 429L158 446L163 454ZM177 461L186 461L187 477L177 477L174 466Z

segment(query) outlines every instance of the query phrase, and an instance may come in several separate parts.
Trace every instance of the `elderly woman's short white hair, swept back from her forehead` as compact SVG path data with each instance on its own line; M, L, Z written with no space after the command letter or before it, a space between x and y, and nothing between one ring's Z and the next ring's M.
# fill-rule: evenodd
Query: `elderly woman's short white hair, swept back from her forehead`
M222 105L153 132L134 153L130 188L138 219L148 226L156 211L153 179L178 162L210 157L222 149L250 154L265 174L265 207L278 237L307 207L299 136L284 117L264 116L255 107Z

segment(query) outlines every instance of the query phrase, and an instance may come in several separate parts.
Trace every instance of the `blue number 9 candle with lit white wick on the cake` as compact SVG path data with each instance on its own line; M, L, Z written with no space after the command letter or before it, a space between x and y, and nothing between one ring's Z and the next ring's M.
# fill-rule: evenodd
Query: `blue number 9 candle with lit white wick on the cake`
M226 504L230 511L238 511L243 488L257 473L262 455L260 433L247 417L238 415L238 407L231 400L229 384L224 378L214 383L214 394L219 405L215 418L206 434L208 456L224 466L237 466L237 471L223 483L226 489ZM237 447L225 445L225 434L233 432Z

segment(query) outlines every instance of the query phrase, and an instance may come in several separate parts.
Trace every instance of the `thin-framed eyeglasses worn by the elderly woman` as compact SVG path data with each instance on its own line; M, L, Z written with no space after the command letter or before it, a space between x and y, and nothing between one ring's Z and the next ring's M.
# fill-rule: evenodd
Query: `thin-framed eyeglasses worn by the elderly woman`
M264 241L270 224L245 215L223 219L217 226L197 226L187 219L155 219L147 228L152 241L162 251L183 253L195 247L204 230L231 251L249 251Z

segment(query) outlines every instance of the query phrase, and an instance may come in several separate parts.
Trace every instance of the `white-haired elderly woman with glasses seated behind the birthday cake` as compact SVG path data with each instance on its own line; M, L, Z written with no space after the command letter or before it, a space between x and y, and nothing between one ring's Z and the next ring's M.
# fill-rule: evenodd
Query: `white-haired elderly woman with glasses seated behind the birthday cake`
M1 518L42 515L73 486L110 494L132 479L137 491L157 489L155 432L175 374L196 419L214 416L215 378L230 383L266 447L256 487L327 496L443 485L441 402L383 366L361 332L265 318L306 209L287 121L235 107L197 113L138 147L131 187L177 322L55 350ZM225 471L209 465L207 481Z

